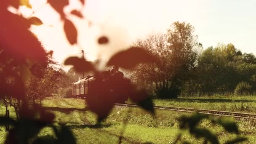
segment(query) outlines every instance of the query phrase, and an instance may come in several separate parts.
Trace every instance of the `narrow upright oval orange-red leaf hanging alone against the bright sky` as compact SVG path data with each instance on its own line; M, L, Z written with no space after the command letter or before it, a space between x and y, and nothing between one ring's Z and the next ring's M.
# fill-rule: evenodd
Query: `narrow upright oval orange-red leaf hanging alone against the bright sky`
M67 40L71 45L77 43L77 29L72 21L65 19L64 21L64 32L66 34Z

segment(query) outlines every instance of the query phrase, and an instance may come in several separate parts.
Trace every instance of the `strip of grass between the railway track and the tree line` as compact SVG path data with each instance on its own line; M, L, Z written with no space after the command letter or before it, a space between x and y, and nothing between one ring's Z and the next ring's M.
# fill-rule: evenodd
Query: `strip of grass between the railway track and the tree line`
M154 99L155 105L256 113L256 96Z

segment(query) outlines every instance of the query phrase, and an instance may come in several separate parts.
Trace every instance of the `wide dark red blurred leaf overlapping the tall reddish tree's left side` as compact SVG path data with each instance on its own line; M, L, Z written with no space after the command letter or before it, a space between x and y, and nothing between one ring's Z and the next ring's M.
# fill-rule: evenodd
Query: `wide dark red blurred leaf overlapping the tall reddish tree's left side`
M115 65L125 69L132 69L137 64L145 62L155 62L155 57L147 53L143 48L131 47L128 50L116 53L107 62L107 66Z

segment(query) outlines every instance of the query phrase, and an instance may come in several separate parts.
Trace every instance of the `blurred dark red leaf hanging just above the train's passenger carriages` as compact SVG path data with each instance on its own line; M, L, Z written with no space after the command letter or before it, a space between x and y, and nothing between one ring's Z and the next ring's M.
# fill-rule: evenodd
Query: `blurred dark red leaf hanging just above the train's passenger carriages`
M64 61L65 65L73 65L76 72L94 71L93 64L85 59L69 57Z

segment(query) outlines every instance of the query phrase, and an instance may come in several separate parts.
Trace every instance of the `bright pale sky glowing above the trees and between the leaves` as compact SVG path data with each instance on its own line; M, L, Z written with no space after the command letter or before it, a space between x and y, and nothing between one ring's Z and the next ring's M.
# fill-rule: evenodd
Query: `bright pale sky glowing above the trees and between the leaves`
M175 21L192 24L203 48L233 43L242 52L256 54L256 0L86 0L85 7L79 0L69 0L65 12L81 10L92 23L89 27L87 20L68 16L78 29L78 45L69 45L63 21L46 0L29 1L32 10L22 7L19 11L43 21L32 31L60 63L68 56L81 56L82 49L88 60L109 59L137 37L166 32ZM97 43L102 35L109 37L108 45Z

